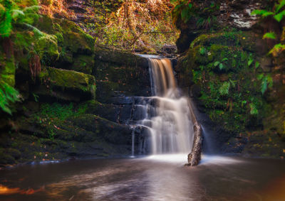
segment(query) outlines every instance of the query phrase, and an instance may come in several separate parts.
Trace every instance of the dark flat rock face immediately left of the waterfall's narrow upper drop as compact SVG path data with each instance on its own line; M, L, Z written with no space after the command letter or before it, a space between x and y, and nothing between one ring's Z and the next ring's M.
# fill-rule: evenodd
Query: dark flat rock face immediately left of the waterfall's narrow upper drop
M102 103L130 104L128 97L151 94L147 59L132 53L97 48L93 75Z

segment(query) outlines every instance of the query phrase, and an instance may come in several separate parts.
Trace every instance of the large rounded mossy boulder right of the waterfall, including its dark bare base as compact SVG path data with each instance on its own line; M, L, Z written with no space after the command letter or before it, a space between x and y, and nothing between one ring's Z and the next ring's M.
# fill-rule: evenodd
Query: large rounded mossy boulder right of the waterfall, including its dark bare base
M227 153L242 153L247 132L262 131L270 110L261 92L260 53L252 51L251 37L239 31L202 34L176 67L180 86L214 122L209 123L213 138Z

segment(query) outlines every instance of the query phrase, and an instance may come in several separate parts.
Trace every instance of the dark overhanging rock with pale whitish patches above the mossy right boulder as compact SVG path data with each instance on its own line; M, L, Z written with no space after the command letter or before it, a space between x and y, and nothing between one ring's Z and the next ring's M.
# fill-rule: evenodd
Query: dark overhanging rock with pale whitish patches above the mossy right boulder
M257 16L252 16L251 13L255 9L264 9L263 0L250 1L215 1L217 9L212 13L204 13L204 9L209 9L213 1L192 1L197 8L200 8L197 13L187 23L184 23L181 18L177 19L176 26L180 29L180 38L177 39L177 48L179 52L184 52L189 48L192 40L195 40L201 33L207 33L209 28L219 30L226 27L237 28L242 31L248 31L258 22ZM209 15L210 23L199 25L202 18L197 16Z

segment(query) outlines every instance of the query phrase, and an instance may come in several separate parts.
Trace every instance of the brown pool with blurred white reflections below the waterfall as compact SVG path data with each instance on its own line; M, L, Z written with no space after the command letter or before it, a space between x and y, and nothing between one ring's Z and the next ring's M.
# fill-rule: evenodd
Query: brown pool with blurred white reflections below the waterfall
M284 161L203 156L200 165L189 168L185 157L68 161L0 170L0 200L285 200Z

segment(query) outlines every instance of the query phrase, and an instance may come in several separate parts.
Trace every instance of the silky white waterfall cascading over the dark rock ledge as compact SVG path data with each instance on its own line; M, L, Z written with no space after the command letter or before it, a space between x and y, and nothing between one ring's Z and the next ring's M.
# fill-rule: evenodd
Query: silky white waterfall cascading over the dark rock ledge
M150 58L152 95L145 108L145 119L138 122L151 136L151 153L190 153L192 151L195 116L187 97L177 88L172 63L167 58Z

